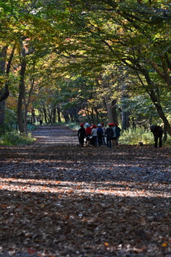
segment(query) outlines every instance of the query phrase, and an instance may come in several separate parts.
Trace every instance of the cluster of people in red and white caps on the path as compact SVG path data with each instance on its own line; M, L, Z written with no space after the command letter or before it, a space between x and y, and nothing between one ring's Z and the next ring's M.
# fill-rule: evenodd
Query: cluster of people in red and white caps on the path
M105 124L101 123L96 126L86 123L80 124L78 129L78 141L80 146L112 146L118 145L118 139L120 137L120 127L118 124L108 124L108 128L105 128Z

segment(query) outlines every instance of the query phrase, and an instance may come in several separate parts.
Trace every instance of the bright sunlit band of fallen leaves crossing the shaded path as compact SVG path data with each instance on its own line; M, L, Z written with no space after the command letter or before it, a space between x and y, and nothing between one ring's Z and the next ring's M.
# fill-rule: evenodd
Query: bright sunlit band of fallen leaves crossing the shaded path
M168 190L170 189L170 190ZM158 183L125 183L125 181L111 182L71 182L52 181L41 179L23 178L0 178L0 190L21 191L31 193L57 193L62 197L69 195L90 196L109 195L120 197L147 197L147 198L170 198L171 186L165 190L165 185Z

